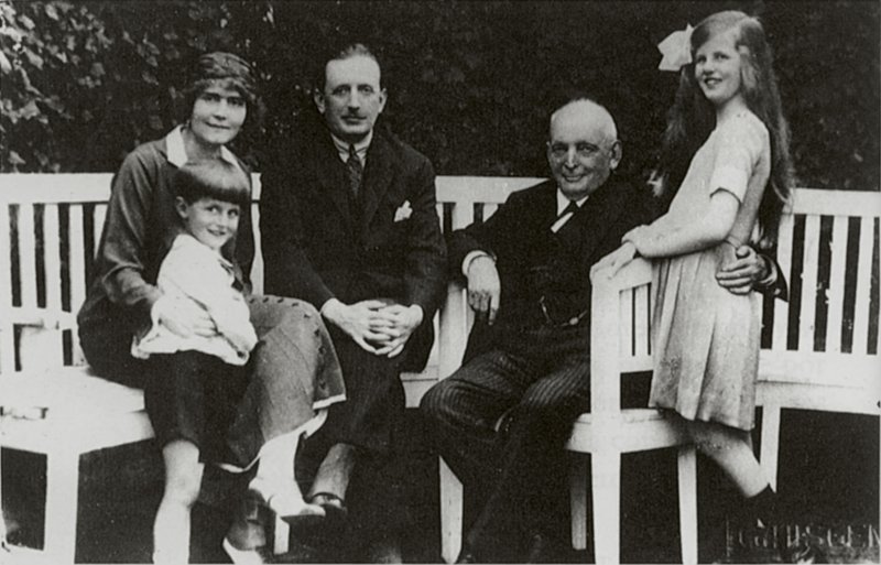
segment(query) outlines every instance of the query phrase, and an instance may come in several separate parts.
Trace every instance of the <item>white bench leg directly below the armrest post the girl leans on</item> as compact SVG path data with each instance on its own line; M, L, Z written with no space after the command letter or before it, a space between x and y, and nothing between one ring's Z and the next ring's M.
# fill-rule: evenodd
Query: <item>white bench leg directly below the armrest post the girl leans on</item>
M594 556L599 565L621 562L621 454L591 454Z

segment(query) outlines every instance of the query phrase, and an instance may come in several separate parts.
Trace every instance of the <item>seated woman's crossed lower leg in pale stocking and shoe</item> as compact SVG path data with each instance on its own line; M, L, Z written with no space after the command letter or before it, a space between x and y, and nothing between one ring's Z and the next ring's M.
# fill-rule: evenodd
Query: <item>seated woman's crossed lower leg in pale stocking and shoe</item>
M294 476L294 457L301 437L311 435L320 427L326 411L293 432L273 437L260 449L257 475L250 488L258 491L267 504L280 517L324 515L324 509L303 500L303 493Z

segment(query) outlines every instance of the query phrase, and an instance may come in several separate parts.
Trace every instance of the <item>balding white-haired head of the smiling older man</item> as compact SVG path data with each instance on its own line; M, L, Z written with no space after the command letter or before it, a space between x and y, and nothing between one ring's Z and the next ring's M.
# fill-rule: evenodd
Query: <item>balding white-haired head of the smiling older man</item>
M579 99L551 115L547 163L557 186L572 200L602 186L621 161L621 143L609 111Z

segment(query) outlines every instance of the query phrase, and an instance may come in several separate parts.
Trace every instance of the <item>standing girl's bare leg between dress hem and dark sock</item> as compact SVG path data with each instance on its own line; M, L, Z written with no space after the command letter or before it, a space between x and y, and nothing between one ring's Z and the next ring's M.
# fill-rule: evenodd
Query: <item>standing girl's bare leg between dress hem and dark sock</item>
M713 422L687 421L687 425L697 448L722 468L741 495L751 498L768 487L747 432Z

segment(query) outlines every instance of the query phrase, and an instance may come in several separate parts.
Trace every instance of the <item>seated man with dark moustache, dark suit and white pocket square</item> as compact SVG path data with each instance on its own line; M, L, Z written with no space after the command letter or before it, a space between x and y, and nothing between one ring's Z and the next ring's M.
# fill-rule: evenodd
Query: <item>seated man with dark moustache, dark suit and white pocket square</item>
M314 304L342 367L347 401L316 436L328 450L309 491L329 517L347 510L354 469L382 475L404 411L400 372L421 370L431 348L446 247L432 164L374 128L387 100L376 56L354 44L322 70L323 123L298 131L263 173L260 231L267 292ZM392 499L388 486L371 485L370 499Z

